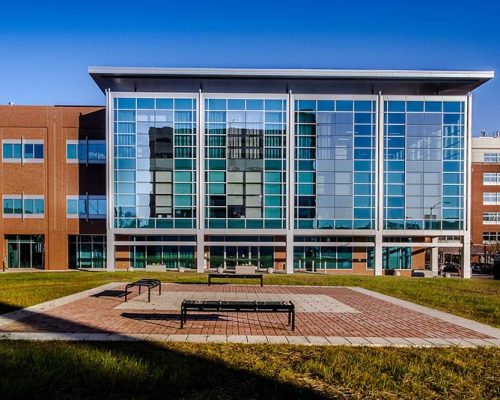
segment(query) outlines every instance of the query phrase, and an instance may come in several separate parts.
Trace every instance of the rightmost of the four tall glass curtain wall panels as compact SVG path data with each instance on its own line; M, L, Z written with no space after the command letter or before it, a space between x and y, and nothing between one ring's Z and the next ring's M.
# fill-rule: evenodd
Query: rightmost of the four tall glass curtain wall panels
M463 229L464 107L384 103L385 229Z

